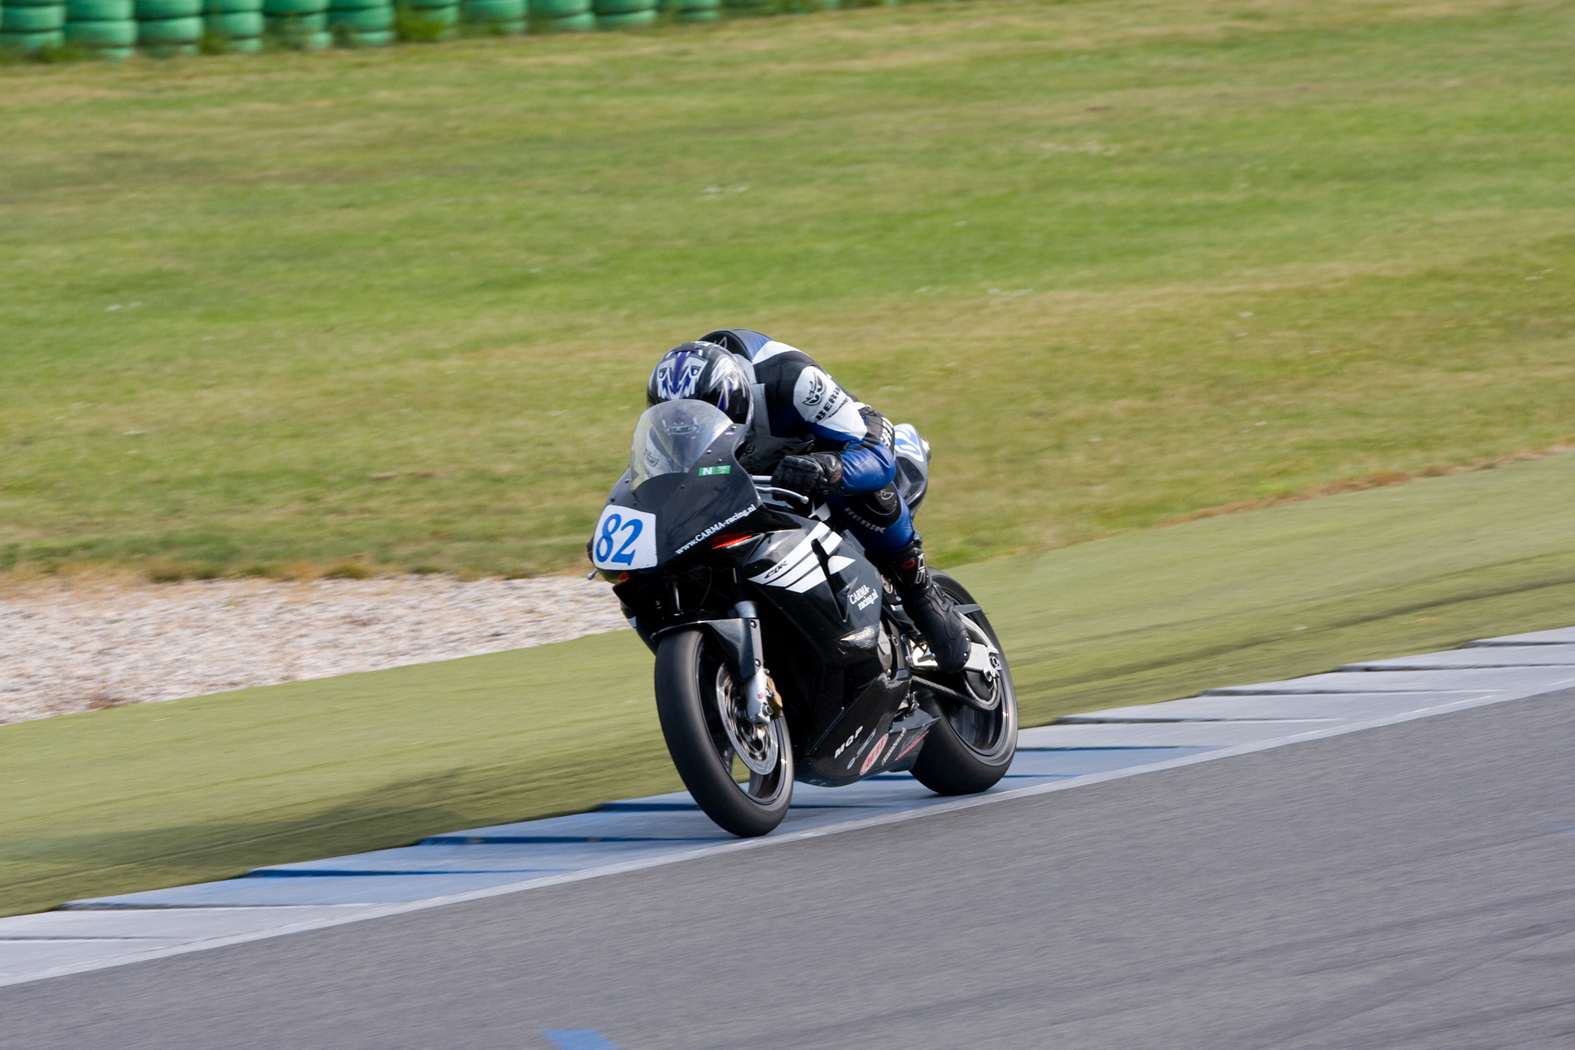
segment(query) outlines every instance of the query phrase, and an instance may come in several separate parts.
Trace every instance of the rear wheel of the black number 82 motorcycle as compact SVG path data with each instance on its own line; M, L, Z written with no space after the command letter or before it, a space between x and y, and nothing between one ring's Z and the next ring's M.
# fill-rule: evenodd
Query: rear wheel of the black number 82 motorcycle
M959 606L976 604L951 576L931 570L936 586ZM972 795L989 790L1006 776L1017 754L1017 694L1011 685L1000 639L983 611L964 612L969 634L988 642L995 653L989 669L969 669L964 685L969 693L992 701L991 710L980 710L961 701L937 697L926 704L940 721L929 730L914 763L914 778L937 795Z

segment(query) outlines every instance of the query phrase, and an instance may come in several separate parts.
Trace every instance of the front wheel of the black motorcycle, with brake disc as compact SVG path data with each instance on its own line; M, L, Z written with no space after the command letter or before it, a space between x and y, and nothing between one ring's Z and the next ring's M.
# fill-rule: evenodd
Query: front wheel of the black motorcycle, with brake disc
M756 726L743 683L702 628L657 645L657 716L673 765L706 815L742 837L765 834L792 800L788 719Z

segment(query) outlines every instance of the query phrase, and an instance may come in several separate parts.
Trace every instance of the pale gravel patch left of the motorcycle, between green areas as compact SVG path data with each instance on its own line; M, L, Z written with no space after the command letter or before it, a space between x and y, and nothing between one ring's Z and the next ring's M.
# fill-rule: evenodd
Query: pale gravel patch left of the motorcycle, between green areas
M35 584L0 592L0 723L627 627L608 584L572 576Z

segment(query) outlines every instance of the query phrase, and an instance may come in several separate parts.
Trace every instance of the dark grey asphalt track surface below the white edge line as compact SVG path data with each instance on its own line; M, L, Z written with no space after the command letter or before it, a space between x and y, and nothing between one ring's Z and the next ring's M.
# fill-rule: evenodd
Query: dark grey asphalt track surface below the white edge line
M1575 1047L1572 757L1575 690L20 984L0 1045Z

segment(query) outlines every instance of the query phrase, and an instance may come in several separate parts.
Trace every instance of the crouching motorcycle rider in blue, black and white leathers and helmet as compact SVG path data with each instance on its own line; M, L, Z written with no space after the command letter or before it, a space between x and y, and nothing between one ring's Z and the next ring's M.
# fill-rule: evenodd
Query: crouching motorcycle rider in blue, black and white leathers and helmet
M747 384L747 387L745 387ZM748 395L745 395L748 389ZM961 614L925 568L925 548L896 491L891 423L854 400L810 354L734 327L674 346L650 373L646 401L710 401L750 422L739 461L772 485L824 499L891 581L942 671L969 658Z

